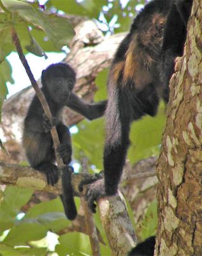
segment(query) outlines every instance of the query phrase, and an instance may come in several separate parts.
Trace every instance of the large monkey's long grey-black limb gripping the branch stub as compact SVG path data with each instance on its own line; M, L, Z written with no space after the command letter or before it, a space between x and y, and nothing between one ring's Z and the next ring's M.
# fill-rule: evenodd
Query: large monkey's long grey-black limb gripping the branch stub
M131 92L122 88L109 88L109 102L106 109L106 141L104 150L104 179L87 186L85 199L92 212L96 212L96 201L100 197L115 195L122 175L129 147L129 128L133 120Z

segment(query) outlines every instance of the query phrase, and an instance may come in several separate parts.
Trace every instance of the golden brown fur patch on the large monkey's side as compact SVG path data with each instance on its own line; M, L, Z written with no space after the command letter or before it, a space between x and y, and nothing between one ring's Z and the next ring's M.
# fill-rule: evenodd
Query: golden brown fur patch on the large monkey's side
M142 31L134 34L126 52L123 86L129 80L139 89L152 83L151 70L155 69L161 50L164 22L165 17L155 13L142 25Z

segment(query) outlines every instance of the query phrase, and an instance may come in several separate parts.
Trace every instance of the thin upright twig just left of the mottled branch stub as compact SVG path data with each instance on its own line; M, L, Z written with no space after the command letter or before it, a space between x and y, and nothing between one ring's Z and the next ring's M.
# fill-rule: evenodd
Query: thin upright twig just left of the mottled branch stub
M87 172L87 159L82 159L82 173ZM100 249L99 249L99 239L97 237L97 230L96 225L94 224L94 219L92 216L92 212L90 211L87 202L85 202L84 198L81 198L83 211L85 213L85 224L86 230L89 235L90 239L90 246L92 250L92 256L100 256Z

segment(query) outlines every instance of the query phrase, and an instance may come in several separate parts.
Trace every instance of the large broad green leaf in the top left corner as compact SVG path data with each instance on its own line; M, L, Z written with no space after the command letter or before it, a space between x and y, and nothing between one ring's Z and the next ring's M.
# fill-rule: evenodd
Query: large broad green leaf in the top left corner
M16 13L32 26L45 31L49 40L54 42L57 49L61 49L62 46L68 44L75 35L75 31L66 18L54 14L45 15L35 8L36 4L18 0L2 0L2 3L10 12Z

